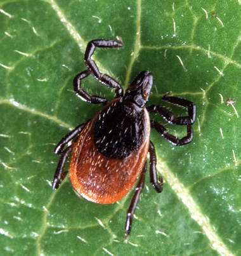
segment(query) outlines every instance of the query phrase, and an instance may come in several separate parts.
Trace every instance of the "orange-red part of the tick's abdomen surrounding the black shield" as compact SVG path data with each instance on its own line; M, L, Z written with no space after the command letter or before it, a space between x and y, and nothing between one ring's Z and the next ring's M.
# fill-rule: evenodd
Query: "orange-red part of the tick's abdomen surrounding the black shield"
M118 99L113 102L118 102ZM150 121L148 112L143 110L142 118L145 119L143 123L148 125L143 127L145 130L143 141L141 141L140 145L138 144L138 148L133 149L133 151L129 149L121 150L120 152L127 152L126 154L131 152L128 156L125 154L122 159L108 157L108 155L112 154L110 153L110 148L103 149L103 152L100 152L102 147L98 148L96 146L96 140L94 139L96 132L94 129L96 122L100 120L100 116L105 116L103 113L110 109L113 102L107 104L95 118L89 121L77 142L75 142L70 162L70 179L75 190L89 201L101 204L119 201L131 191L145 165L149 149ZM103 141L105 141L104 138ZM108 143L105 142L105 144ZM126 147L126 144L122 143L121 145ZM108 152L107 156L105 155L106 151ZM116 156L121 158L118 154Z

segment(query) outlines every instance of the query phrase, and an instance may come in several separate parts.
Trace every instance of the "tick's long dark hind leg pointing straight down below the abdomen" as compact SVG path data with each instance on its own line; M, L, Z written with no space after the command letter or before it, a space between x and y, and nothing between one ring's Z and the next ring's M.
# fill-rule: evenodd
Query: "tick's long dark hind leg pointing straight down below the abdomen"
M127 210L127 218L126 218L126 241L128 239L129 234L131 233L131 229L132 229L132 224L133 224L133 215L134 212L136 210L136 206L138 204L138 201L140 199L141 196L141 192L143 191L143 187L145 185L145 177L146 177L146 173L147 173L147 162L145 163L142 172L141 172L141 176L140 176L140 180L136 186L135 192L134 192L134 196L131 199L131 205L129 206L128 210Z

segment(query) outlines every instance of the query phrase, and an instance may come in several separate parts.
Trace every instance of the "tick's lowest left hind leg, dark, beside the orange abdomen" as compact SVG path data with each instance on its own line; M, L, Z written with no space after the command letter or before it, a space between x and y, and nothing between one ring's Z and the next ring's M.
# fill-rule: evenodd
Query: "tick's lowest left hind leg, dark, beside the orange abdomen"
M68 172L63 173L63 169L65 168L65 163L67 161L68 156L70 155L71 151L74 149L74 144L70 145L65 149L60 157L60 161L58 161L58 166L56 168L55 176L53 177L53 189L58 189L62 180L65 178Z

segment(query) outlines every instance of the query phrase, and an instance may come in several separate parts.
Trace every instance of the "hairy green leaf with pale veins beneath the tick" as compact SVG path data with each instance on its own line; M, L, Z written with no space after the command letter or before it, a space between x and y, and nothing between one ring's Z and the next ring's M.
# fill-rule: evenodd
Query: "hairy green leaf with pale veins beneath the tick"
M0 254L240 255L240 6L238 1L1 1ZM143 70L155 80L148 105L167 91L197 104L191 144L152 130L164 192L147 182L124 243L133 191L114 205L79 198L67 177L53 191L55 145L101 108L75 97L92 39L102 72L124 88ZM114 98L89 77L84 88ZM235 99L236 104L226 104ZM159 116L152 116L166 126ZM167 126L183 137L186 127Z

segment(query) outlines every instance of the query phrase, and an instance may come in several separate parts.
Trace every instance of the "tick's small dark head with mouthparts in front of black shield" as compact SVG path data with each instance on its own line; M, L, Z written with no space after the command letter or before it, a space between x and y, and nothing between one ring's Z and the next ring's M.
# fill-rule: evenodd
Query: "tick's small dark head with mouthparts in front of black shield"
M148 71L142 71L129 85L124 95L124 100L130 101L144 107L148 102L150 91L152 90L153 75Z

